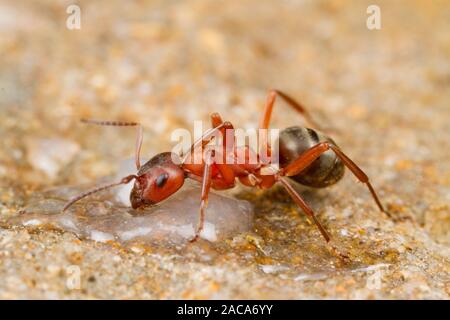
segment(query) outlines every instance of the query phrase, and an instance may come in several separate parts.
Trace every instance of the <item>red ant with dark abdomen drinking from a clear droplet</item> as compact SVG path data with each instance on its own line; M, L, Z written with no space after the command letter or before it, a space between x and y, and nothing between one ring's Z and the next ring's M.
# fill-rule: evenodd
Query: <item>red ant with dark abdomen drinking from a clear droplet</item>
M269 128L273 107L277 97L283 99L287 105L302 115L309 125L318 127L312 121L307 110L300 103L279 90L271 90L267 98L264 113L259 122L260 129ZM317 219L313 210L292 187L288 178L302 185L324 188L339 181L344 175L345 167L347 167L359 181L366 184L378 208L390 216L390 214L384 210L374 188L369 182L368 176L363 170L341 151L330 137L318 130L293 126L280 132L280 169L278 171L275 171L270 167L270 163L266 164L260 162L259 158L257 164L250 164L247 162L244 164L228 164L228 162L219 164L214 161L216 156L215 152L203 152L203 147L212 140L215 133L221 133L222 137L225 137L225 131L233 130L234 128L230 122L224 122L218 113L213 113L211 114L212 128L207 130L202 135L201 139L194 142L187 154L187 156L190 156L194 155L196 152L201 152L202 161L200 164L186 163L186 157L180 164L176 164L173 161L173 159L176 159L174 158L174 153L163 152L154 156L141 166L140 150L143 132L142 127L138 122L85 119L82 119L81 121L104 126L137 127L138 133L135 148L137 173L124 177L119 182L101 186L71 198L65 204L63 211L67 210L71 205L84 197L114 186L127 184L133 179L134 186L130 194L131 206L133 209L144 208L168 198L181 188L185 179L189 178L202 185L199 221L194 237L189 240L190 242L194 242L200 237L200 233L203 230L205 209L208 204L208 194L211 188L216 190L233 188L236 179L245 186L258 187L261 189L267 189L276 183L280 183L302 211L314 221L323 238L328 243L331 239L330 235ZM270 145L267 142L267 139L264 140L264 146L270 151ZM225 149L223 151L225 152ZM233 146L231 152L232 156L236 158L240 152L245 152L246 160L248 160L248 155L252 150L248 146ZM262 174L262 170L265 168L272 169L272 173Z

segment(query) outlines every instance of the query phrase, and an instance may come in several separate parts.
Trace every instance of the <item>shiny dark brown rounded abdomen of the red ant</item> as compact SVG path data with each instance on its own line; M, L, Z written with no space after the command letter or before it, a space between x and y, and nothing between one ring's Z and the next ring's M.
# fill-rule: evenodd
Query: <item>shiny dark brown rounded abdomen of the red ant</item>
M302 153L320 142L336 143L325 134L310 128L289 127L280 132L279 156L280 167L286 167ZM326 151L308 168L296 176L294 181L314 188L324 188L335 184L344 175L342 161L332 151Z

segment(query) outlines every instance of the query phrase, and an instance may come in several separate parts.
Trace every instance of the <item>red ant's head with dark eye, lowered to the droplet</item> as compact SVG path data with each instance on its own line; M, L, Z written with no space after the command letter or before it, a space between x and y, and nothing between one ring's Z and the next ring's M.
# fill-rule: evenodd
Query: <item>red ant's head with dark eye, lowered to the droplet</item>
M156 204L181 188L185 174L172 157L176 154L160 153L139 169L130 194L133 209Z

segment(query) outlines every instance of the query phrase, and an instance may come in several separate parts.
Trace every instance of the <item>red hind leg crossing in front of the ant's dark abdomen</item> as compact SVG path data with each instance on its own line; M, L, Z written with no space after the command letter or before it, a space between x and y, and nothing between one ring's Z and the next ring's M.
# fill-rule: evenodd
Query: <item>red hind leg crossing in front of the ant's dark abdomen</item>
M364 171L358 167L347 155L345 155L341 149L337 146L328 143L321 142L306 150L302 155L300 155L296 160L291 162L286 167L280 169L278 172L281 176L295 176L306 169L311 163L314 162L320 155L328 150L333 150L337 157L344 163L344 165L358 178L359 181L365 183L367 188L369 189L375 203L377 204L380 211L384 212L388 217L391 217L391 214L384 210L383 205L381 204L380 199L378 198L375 189L372 187L372 184L369 182L369 177L364 173Z

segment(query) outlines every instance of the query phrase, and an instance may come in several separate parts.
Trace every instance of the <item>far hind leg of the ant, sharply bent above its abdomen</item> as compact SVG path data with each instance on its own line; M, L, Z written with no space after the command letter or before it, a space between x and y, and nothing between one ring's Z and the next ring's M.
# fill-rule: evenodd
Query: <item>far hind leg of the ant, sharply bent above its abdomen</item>
M264 108L264 113L262 114L260 121L259 121L260 129L268 129L269 128L269 123L270 123L270 119L272 116L272 110L273 110L273 106L275 105L275 100L276 100L277 96L282 98L290 107L292 107L294 110L299 112L310 126L320 130L320 126L311 118L311 115L309 114L309 112L306 110L306 108L302 104L295 101L293 98L288 96L286 93L279 91L279 90L271 90L269 92L269 96L267 97L266 107Z

